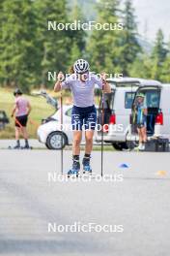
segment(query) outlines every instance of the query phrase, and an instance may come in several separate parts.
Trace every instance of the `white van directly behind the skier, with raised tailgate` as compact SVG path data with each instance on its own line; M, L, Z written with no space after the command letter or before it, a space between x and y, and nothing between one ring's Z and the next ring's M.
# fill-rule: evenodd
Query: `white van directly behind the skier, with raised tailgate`
M104 94L104 135L105 143L112 144L117 150L127 149L129 114L135 92L142 82L139 79L120 78L108 80L112 93ZM99 105L99 123L101 124L101 102ZM97 136L101 140L101 132Z

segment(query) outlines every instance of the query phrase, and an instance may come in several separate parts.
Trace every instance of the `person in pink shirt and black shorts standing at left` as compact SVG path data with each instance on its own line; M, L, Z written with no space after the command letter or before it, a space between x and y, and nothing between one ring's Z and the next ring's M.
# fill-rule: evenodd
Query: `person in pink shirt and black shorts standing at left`
M15 140L16 145L14 146L15 149L20 148L20 141L19 136L20 134L23 136L25 140L25 145L22 148L30 148L28 143L28 132L26 129L28 115L31 112L31 105L27 99L22 96L22 92L20 89L14 90L14 109L12 112L12 117L15 120Z

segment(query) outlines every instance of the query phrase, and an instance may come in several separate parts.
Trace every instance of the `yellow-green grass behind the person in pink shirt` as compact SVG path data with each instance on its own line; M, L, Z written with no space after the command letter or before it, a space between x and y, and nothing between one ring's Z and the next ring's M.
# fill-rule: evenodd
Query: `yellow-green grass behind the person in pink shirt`
M42 118L52 114L54 109L46 104L45 99L42 97L34 97L25 95L29 99L32 112L28 121L28 131L30 138L37 138L37 127L41 124ZM10 124L6 126L6 129L0 131L0 139L13 139L14 138L14 119L11 118L11 112L14 106L13 90L0 88L0 110L4 110L10 118ZM31 123L31 122L34 122Z

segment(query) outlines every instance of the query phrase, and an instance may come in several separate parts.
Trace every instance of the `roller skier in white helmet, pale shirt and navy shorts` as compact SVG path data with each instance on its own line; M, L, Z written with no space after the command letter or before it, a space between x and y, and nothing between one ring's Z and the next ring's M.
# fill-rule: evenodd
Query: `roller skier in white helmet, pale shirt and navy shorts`
M80 171L79 154L82 139L82 130L85 130L85 154L83 157L83 173L92 173L90 166L91 152L93 148L94 131L97 124L97 110L94 102L95 84L110 93L110 85L105 80L105 75L100 78L94 73L90 73L89 63L84 59L78 59L73 64L71 76L62 80L64 75L59 73L58 80L54 85L54 91L71 89L73 107L71 112L71 125L73 132L72 142L72 167L68 176L78 175Z

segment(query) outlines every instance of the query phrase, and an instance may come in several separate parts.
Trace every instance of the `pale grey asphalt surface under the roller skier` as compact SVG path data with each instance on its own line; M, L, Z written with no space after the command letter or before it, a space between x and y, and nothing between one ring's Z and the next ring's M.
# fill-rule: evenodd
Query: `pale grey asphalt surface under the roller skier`
M116 176L117 181L106 182L97 180L96 151L92 180L52 181L49 176L60 174L60 152L1 150L0 255L169 256L169 155L107 151L103 174ZM64 151L64 159L66 172L71 151ZM117 229L48 230L50 224L66 228L75 222ZM120 227L123 232L118 232Z

